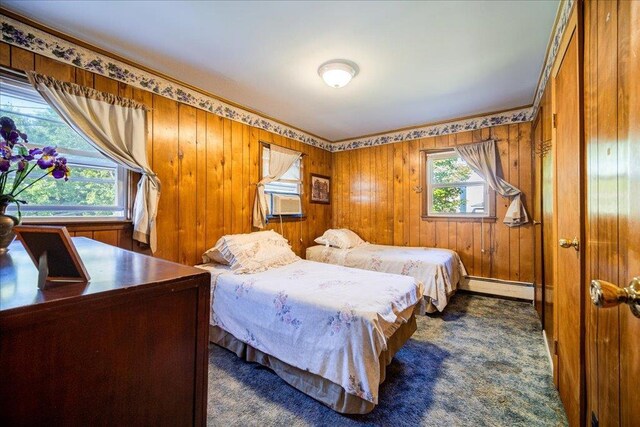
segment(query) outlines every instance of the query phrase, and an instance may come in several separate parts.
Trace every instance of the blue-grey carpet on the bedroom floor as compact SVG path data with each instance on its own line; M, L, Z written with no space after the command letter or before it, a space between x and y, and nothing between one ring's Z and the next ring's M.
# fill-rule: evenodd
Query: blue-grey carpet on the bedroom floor
M270 370L209 349L212 426L566 425L540 322L528 303L456 295L444 313L419 316L418 331L387 367L380 404L340 415Z

